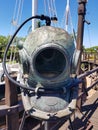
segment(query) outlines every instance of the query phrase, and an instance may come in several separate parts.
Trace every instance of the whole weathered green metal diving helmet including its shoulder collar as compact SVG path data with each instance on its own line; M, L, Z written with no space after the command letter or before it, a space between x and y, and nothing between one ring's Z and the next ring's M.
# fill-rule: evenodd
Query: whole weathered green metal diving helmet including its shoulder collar
M42 26L18 44L25 111L43 120L68 118L76 109L79 52L63 29ZM25 84L25 87L23 86Z

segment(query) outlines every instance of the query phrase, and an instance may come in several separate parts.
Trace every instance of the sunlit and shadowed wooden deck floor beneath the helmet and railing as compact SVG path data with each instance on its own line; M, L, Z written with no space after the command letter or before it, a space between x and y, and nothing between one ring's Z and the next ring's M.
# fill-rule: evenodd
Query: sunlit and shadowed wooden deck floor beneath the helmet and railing
M98 91L84 103L81 112L79 110L75 112L71 120L73 130L98 130ZM44 128L43 124L44 122L41 123L41 121L28 117L23 130L41 130ZM57 122L50 124L52 130L54 130L53 126L56 124ZM57 130L70 130L69 121L63 122L63 125L58 127Z

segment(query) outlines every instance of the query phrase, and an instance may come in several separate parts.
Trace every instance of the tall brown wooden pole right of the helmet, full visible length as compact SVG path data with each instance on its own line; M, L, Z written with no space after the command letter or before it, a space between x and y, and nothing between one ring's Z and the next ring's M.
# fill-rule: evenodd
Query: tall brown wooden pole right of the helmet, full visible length
M77 31L77 40L76 40L76 49L80 50L79 63L77 68L77 75L81 74L81 56L83 49L83 34L84 34L84 22L85 22L85 14L86 14L86 3L87 0L78 0L78 31ZM83 84L79 85L78 95L83 91ZM77 101L77 106L81 109L82 98Z

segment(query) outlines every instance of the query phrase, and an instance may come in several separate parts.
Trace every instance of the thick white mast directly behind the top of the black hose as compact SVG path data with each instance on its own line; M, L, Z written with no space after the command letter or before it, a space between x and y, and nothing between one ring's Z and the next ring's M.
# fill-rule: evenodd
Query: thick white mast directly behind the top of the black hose
M32 0L32 16L37 15L38 0ZM36 28L36 19L32 20L32 31Z

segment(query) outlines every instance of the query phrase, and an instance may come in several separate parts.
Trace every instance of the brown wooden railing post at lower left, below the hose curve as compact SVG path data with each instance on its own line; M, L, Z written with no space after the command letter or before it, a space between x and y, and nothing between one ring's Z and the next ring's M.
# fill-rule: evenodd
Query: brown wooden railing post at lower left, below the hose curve
M5 77L5 103L11 107L18 104L17 86ZM14 114L11 114L10 109L6 115L7 130L19 129L19 112L18 109Z

